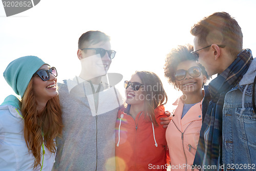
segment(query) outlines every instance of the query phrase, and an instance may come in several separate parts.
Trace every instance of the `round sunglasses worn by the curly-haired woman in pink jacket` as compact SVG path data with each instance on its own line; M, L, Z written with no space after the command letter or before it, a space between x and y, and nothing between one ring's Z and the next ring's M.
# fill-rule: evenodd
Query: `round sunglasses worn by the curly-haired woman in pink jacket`
M183 80L186 77L186 74L189 74L191 77L199 77L201 76L201 68L198 66L193 66L189 68L188 70L179 69L175 72L175 79L180 81Z

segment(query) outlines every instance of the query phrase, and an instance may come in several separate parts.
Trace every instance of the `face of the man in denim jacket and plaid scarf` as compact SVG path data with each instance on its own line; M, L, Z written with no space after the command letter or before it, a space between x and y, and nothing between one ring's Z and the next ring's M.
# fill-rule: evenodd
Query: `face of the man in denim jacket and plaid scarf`
M198 37L195 36L194 38L194 51L200 50L200 48L203 48L205 46L202 46L198 43ZM211 50L211 47L207 47L203 50L200 50L197 52L199 58L198 58L198 63L201 63L204 67L205 70L207 71L207 74L209 76L217 74L216 72L216 67L217 63L214 60L214 52Z

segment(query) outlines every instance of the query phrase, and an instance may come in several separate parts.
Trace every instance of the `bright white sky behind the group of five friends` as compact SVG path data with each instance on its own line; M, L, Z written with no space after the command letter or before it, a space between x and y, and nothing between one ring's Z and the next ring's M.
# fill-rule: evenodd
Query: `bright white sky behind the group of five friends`
M109 72L130 80L136 70L155 72L168 95L168 106L181 94L164 78L168 52L193 44L190 28L214 12L236 18L244 35L244 48L256 52L256 1L64 1L41 0L34 8L6 17L0 3L0 104L13 94L3 72L14 59L34 55L58 70L58 81L79 75L77 42L80 35L99 30L111 37L117 52ZM166 107L168 109L168 106Z

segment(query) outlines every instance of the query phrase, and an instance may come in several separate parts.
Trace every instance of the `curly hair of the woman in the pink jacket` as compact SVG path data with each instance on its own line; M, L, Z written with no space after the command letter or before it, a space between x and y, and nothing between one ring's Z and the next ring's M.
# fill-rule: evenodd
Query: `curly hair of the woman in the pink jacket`
M195 55L190 53L193 51L193 45L179 45L177 48L173 48L165 59L164 76L167 78L168 83L172 84L175 89L178 89L174 76L177 66L183 61L196 61ZM205 68L201 64L198 64L198 66L201 68L202 74L209 79L210 77L208 76Z

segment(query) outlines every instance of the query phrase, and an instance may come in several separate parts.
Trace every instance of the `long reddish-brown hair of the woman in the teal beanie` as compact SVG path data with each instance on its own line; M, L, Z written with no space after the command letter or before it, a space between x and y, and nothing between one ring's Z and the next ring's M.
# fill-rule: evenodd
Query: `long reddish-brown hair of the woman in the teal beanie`
M38 165L41 166L42 143L45 144L51 153L56 152L54 138L61 135L63 128L59 97L55 96L50 99L45 109L38 112L36 110L37 103L35 101L33 81L31 79L20 106L24 118L25 141L29 151L35 157L34 168L36 168Z

